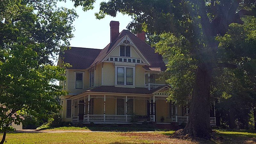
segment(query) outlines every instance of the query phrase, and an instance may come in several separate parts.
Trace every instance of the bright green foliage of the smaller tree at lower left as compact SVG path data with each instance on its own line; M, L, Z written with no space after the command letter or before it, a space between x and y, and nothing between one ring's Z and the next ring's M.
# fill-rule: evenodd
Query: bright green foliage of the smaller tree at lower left
M65 80L65 70L51 65L38 65L38 55L33 48L43 44L28 44L20 37L20 44L13 44L12 50L4 52L0 64L0 131L12 131L10 123L20 124L22 117L31 116L41 121L48 114L60 109L56 100L66 95L55 80Z

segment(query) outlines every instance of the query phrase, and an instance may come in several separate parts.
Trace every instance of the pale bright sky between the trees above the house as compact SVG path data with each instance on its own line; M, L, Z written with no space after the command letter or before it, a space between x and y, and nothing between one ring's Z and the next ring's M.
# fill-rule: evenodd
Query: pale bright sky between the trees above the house
M110 42L110 27L111 20L119 21L119 32L126 29L126 26L132 21L128 15L118 13L116 17L106 16L102 20L97 20L94 16L95 12L99 12L100 2L103 0L96 0L94 9L84 12L82 7L75 8L70 0L67 2L58 2L58 7L66 7L75 9L79 17L73 22L75 31L74 38L70 41L70 46L86 47L103 49Z

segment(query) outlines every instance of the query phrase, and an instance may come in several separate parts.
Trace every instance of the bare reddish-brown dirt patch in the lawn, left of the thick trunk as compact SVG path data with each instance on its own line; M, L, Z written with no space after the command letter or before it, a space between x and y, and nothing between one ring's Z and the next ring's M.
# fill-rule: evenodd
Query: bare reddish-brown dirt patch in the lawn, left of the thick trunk
M175 143L175 144L197 144L198 142L190 141L190 140L181 140L181 139L172 139L169 135L164 135L160 133L147 133L147 132L125 132L120 135L126 136L129 138L138 138L141 140L150 140L154 141L154 144L160 143Z

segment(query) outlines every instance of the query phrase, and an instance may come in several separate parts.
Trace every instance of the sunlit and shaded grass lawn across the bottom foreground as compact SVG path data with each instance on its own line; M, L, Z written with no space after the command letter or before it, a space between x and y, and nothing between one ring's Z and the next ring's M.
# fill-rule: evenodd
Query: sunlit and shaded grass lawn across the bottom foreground
M64 128L65 129L65 128ZM65 131L61 128L54 131ZM67 130L67 129L66 129ZM69 129L69 130L83 130ZM88 129L85 129L89 131ZM48 132L47 133L8 133L7 144L20 143L110 143L110 144L135 144L135 143L256 143L256 133L216 131L216 138L212 140L179 140L170 139L174 131L158 132ZM1 138L1 136L0 136Z

